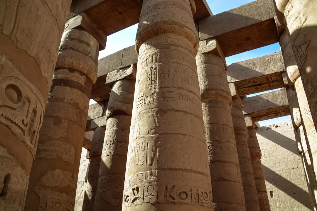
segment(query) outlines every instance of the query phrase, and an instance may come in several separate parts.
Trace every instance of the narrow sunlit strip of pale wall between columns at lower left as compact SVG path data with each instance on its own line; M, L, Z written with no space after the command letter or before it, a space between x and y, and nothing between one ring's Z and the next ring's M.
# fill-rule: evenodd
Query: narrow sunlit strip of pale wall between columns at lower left
M89 168L89 159L86 158L86 155L87 155L87 149L82 148L79 171L78 171L74 211L81 211L82 204L84 202L85 188L86 188L86 181L87 181L87 171Z

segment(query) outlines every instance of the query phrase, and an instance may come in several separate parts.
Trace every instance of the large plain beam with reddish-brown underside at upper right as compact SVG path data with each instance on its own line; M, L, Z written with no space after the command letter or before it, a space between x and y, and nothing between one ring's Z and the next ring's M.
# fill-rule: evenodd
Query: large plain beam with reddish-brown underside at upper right
M198 21L199 38L216 38L231 56L279 41L272 0L257 0Z

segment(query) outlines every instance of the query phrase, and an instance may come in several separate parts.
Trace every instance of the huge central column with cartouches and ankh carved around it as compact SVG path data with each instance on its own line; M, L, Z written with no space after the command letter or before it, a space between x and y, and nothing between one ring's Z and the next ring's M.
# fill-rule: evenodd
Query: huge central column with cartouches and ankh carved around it
M122 210L213 210L192 0L144 0Z

